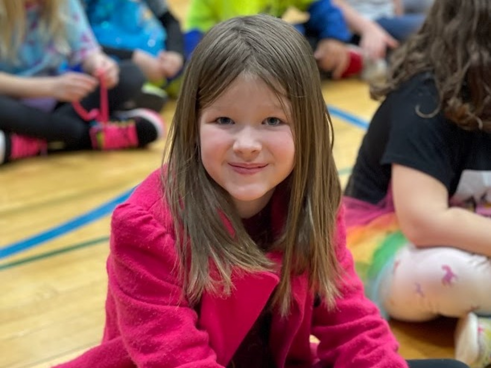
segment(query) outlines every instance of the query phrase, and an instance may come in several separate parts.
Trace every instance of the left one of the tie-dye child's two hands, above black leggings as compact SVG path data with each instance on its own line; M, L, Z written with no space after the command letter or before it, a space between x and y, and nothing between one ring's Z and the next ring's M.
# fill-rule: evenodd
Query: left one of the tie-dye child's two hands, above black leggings
M53 78L52 96L58 101L80 101L94 91L98 80L83 73L65 73Z

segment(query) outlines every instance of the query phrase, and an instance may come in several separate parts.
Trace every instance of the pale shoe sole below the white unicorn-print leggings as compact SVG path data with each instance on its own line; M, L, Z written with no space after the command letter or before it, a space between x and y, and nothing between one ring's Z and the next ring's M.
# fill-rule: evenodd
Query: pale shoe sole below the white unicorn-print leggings
M474 313L459 319L455 330L455 359L472 365L479 357L479 321Z

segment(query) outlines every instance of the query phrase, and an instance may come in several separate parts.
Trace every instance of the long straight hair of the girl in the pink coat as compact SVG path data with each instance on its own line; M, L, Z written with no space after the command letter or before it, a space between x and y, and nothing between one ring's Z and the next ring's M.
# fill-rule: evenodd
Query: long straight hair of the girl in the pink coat
M234 18L212 28L194 50L184 74L166 147L164 192L171 208L185 296L229 294L232 268L272 270L247 235L230 196L200 160L200 111L241 74L255 75L292 107L295 166L281 185L288 189L286 223L274 246L283 253L274 302L287 314L292 274L307 272L313 293L329 306L338 293L334 232L341 188L332 155L332 123L319 73L306 40L291 25L267 15ZM286 207L286 206L285 206ZM224 225L225 214L234 228ZM218 275L210 272L210 261ZM217 277L218 276L218 277Z

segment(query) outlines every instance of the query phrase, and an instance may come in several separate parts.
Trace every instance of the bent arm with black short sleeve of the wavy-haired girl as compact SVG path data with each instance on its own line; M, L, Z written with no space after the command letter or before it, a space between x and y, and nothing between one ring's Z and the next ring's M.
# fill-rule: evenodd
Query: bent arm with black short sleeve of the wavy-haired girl
M416 246L455 246L490 256L491 219L449 206L452 185L470 157L460 145L469 135L445 118L438 96L431 74L422 74L384 101L389 115L379 119L391 123L381 164L392 167L396 215Z

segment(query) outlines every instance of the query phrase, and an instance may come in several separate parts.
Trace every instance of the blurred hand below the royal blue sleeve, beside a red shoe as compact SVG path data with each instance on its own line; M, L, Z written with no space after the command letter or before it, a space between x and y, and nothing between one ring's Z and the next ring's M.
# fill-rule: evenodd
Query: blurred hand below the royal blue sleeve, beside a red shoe
M350 56L348 47L341 41L323 39L314 52L319 68L332 72L332 78L339 79L348 68Z

